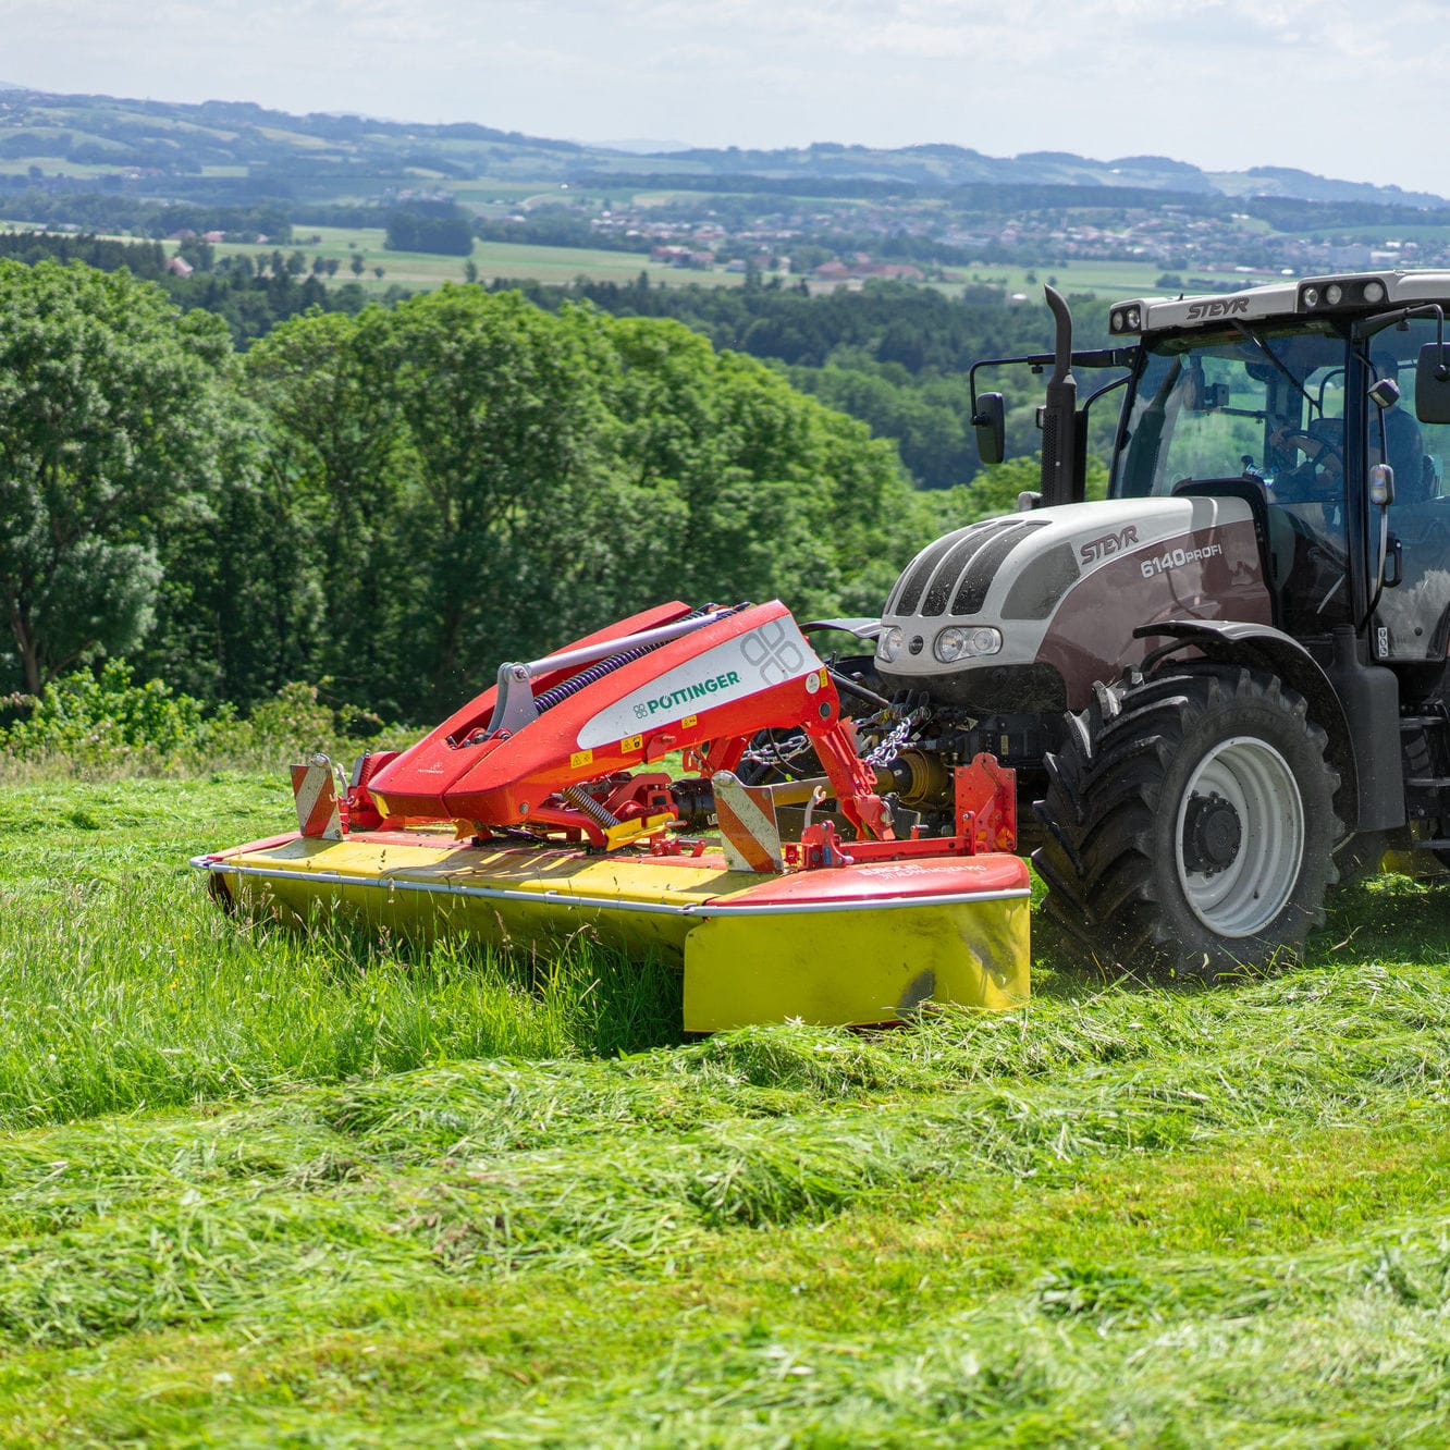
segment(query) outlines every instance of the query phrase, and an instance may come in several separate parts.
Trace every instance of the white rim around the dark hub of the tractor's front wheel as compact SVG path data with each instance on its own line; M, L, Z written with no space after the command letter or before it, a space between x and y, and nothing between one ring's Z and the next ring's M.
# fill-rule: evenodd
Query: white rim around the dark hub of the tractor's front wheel
M1183 856L1189 806L1212 795L1238 815L1238 853L1221 870L1190 870ZM1304 799L1273 745L1235 735L1199 761L1179 802L1173 857L1189 909L1219 937L1251 937L1283 911L1304 864Z

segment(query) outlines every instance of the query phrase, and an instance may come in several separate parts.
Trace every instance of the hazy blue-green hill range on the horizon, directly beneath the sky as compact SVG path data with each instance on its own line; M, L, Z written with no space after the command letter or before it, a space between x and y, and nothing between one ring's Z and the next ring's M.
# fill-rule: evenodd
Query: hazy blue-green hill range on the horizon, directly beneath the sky
M651 149L652 148L652 149ZM59 96L0 83L0 184L90 186L174 200L374 200L429 183L477 178L567 183L628 174L863 181L934 190L960 186L1073 186L1275 197L1441 210L1428 191L1337 181L1288 167L1208 173L1169 157L1096 161L1069 151L987 157L945 144L876 149L822 142L777 151L612 145L526 136L492 126L422 125L312 112L293 116L248 102L173 104L112 96Z

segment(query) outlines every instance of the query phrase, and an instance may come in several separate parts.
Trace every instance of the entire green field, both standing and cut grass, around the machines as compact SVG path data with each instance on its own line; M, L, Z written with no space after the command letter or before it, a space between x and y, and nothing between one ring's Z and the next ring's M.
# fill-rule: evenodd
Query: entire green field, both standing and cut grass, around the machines
M1446 887L1306 963L684 1043L673 973L299 940L278 777L0 798L10 1444L1443 1444ZM848 966L848 964L844 964Z

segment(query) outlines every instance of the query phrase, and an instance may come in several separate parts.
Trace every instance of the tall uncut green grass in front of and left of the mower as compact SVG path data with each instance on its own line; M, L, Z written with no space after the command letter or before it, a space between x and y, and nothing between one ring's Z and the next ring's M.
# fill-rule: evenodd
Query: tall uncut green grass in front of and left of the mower
M677 1037L679 974L587 935L508 956L225 915L188 856L286 828L287 795L154 780L0 802L0 1124ZM196 819L168 840L207 799L233 805L210 840Z

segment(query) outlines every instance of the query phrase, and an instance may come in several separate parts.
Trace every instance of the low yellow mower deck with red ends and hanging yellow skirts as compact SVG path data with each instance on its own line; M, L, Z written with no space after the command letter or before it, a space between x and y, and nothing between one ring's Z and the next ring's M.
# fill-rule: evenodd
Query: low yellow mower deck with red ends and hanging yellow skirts
M441 831L287 835L197 857L248 911L338 911L500 945L581 927L683 963L684 1028L898 1021L924 1002L1028 996L1028 874L1015 856L918 857L761 876L718 854L460 842Z

